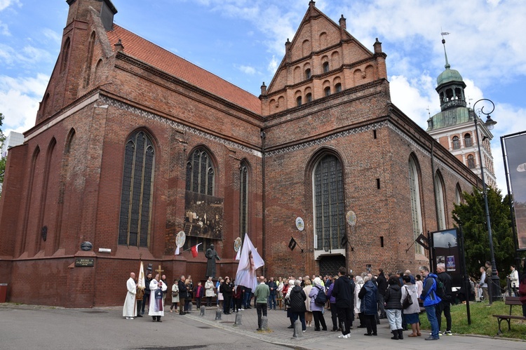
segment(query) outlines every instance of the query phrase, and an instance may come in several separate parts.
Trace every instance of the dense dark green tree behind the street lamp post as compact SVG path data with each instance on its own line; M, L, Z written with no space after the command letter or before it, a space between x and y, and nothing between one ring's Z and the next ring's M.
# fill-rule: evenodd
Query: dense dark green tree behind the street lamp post
M454 205L453 219L464 233L466 265L470 276L479 276L479 269L489 261L490 239L487 234L484 197L473 187L473 193L463 193L464 203ZM508 196L502 198L501 191L488 187L487 204L490 210L493 250L499 278L506 285L509 267L515 262L515 245L511 227L511 212ZM455 225L455 226L457 226Z

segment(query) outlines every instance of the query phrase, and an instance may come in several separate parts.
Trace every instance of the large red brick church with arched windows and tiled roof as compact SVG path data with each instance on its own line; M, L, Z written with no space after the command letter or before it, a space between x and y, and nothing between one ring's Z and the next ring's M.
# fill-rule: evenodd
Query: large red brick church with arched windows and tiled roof
M121 304L140 260L204 280L210 243L217 276L235 276L245 232L266 276L415 269L429 260L414 239L452 227L478 183L391 103L382 43L314 1L259 96L115 25L110 0L67 5L35 126L8 154L11 302Z

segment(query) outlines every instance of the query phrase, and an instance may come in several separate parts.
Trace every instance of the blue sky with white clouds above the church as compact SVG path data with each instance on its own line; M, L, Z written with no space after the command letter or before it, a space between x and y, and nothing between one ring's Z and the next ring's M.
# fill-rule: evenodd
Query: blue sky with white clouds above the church
M309 0L112 1L116 24L254 95L271 82L309 7ZM335 22L344 15L347 31L371 51L375 38L382 42L391 100L424 130L440 112L440 34L449 33L447 58L471 106L480 98L495 104L492 154L497 187L507 193L500 137L526 130L526 1L318 0L316 7ZM67 11L65 0L0 0L4 134L34 126Z

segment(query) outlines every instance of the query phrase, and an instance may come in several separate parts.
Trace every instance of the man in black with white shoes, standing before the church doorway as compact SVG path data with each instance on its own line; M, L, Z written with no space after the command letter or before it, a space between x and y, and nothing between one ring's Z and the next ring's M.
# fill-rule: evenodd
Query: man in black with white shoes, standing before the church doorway
M347 339L351 337L354 290L351 288L351 281L347 277L345 267L338 269L338 275L339 278L335 281L335 286L332 287L332 295L336 299L339 326L342 328L342 335L338 335L338 337Z

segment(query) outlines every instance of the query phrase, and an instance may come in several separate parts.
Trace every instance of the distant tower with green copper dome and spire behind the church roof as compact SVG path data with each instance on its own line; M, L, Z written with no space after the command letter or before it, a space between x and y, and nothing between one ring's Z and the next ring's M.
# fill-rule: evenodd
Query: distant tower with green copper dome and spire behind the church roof
M427 120L427 132L440 144L480 177L481 164L485 167L486 184L495 187L496 177L493 166L490 141L493 138L484 122L478 119L473 109L466 107L464 88L466 83L460 73L451 69L447 61L445 39L442 39L445 55L445 71L436 79L436 92L440 96L440 112ZM478 156L475 118L478 122L478 140L482 161Z

